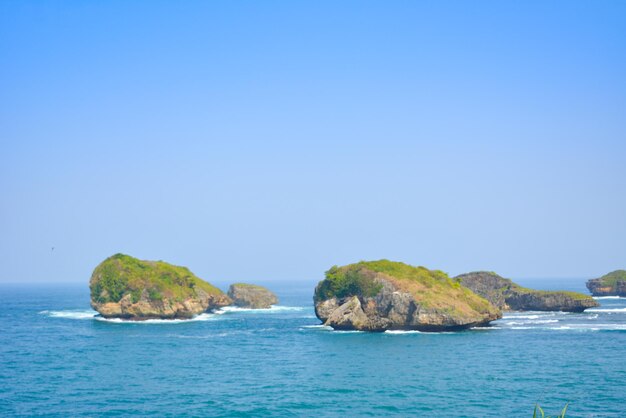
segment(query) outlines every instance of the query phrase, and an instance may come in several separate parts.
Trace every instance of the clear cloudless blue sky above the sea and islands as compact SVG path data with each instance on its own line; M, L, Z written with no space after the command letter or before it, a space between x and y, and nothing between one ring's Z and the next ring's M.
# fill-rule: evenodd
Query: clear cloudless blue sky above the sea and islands
M0 282L626 268L623 1L2 1L0 63Z

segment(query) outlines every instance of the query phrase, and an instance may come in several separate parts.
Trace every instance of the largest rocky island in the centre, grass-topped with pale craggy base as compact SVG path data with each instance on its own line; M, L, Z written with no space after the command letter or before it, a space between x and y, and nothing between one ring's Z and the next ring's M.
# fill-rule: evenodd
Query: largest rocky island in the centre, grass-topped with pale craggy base
M336 330L445 331L502 317L444 272L388 260L332 267L314 302L317 317Z

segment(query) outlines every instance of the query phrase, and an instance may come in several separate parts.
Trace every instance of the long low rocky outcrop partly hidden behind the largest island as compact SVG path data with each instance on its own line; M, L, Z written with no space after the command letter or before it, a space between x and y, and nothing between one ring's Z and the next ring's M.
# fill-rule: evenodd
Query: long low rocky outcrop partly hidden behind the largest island
M582 293L527 289L493 272L461 274L455 279L505 311L582 312L599 306L592 297Z

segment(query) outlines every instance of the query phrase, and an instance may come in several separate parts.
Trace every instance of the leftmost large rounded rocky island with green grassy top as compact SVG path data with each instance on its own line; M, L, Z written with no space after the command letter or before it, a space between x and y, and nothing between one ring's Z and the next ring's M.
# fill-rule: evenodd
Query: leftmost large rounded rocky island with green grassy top
M221 290L186 267L124 254L100 263L89 287L91 306L105 318L191 318L232 303Z

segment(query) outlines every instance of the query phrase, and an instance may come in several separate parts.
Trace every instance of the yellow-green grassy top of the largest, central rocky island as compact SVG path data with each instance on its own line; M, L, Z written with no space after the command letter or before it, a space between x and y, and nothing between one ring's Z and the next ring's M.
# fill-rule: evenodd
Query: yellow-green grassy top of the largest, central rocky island
M382 277L399 289L410 293L422 306L490 311L494 307L471 290L461 286L441 270L429 270L409 264L389 261L361 261L347 266L333 266L320 282L316 300L347 296L376 296L382 289L374 278Z

